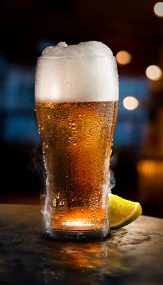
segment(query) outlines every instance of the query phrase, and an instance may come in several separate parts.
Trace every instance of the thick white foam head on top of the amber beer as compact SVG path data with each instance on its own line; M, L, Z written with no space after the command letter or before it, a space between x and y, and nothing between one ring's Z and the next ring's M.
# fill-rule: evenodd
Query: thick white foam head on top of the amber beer
M35 101L116 101L117 64L108 46L88 41L49 46L37 61Z

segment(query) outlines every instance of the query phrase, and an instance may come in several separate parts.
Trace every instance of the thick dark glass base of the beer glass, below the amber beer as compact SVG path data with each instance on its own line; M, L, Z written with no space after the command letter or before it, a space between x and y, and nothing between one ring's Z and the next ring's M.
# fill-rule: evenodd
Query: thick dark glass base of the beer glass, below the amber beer
M95 241L103 240L111 234L111 228L101 228L95 230L46 230L46 237L55 240L69 241Z

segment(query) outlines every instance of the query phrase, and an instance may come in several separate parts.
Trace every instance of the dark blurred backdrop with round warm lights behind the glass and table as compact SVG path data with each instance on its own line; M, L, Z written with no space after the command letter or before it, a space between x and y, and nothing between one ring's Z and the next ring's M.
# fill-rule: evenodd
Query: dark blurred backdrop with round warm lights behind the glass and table
M163 3L1 0L0 8L0 202L39 204L44 189L37 57L59 41L95 40L113 50L119 70L113 193L140 202L144 215L163 217Z

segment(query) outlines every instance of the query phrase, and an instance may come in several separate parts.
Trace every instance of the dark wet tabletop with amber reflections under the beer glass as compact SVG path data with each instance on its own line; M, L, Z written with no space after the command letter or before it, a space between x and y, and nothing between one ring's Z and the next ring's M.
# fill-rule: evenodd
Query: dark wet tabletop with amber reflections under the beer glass
M163 219L142 216L103 242L46 239L39 206L0 205L0 284L163 284Z

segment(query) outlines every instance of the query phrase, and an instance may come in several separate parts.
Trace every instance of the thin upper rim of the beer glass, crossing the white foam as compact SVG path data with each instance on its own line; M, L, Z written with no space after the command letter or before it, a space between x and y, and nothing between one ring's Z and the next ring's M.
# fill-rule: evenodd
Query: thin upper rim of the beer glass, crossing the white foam
M62 55L62 56L59 56L59 57L45 57L44 55L41 55L40 57L37 57L37 59L107 59L107 58L110 58L110 59L115 59L116 60L116 57L113 56L113 55L97 55L97 56L93 56L93 55L90 55L90 56L65 56L65 55Z

